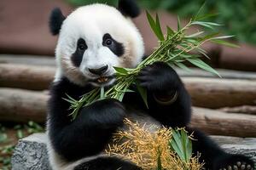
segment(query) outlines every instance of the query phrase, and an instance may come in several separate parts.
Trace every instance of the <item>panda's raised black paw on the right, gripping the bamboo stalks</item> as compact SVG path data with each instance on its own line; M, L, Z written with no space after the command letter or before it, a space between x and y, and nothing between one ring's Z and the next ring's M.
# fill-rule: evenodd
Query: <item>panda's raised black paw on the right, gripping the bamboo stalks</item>
M175 91L182 85L176 71L163 62L155 62L139 72L138 81L143 88L152 92Z

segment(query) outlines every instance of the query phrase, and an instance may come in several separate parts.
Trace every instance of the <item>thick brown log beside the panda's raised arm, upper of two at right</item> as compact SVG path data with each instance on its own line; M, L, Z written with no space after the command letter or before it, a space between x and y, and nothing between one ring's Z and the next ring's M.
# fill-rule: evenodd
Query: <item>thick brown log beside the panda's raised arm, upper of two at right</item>
M220 108L256 105L256 81L183 77L195 106Z

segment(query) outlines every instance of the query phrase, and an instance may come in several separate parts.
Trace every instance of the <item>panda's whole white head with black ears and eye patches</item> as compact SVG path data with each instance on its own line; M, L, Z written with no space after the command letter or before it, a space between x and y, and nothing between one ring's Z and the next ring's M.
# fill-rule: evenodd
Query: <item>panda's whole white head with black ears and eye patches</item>
M65 17L55 8L49 20L55 49L55 80L67 77L84 86L108 86L114 82L113 66L132 68L143 58L143 38L131 18L139 14L132 0L119 0L119 7L91 4Z

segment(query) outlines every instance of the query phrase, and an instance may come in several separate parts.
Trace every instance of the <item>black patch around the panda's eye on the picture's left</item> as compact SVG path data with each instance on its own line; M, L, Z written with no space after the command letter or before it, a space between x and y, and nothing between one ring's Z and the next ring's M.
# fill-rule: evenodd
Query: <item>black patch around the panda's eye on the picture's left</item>
M76 51L72 54L71 60L73 62L73 65L79 67L79 65L82 62L84 51L87 49L86 42L83 38L79 38L77 42L77 48Z

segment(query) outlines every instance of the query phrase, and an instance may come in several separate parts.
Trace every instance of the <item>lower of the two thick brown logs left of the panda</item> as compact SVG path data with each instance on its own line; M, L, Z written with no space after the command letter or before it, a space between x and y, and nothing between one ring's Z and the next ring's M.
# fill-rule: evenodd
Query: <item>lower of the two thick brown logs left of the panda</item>
M42 92L0 88L0 120L2 122L44 122L49 96Z

